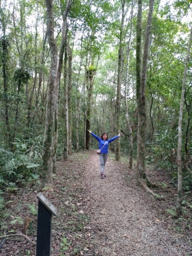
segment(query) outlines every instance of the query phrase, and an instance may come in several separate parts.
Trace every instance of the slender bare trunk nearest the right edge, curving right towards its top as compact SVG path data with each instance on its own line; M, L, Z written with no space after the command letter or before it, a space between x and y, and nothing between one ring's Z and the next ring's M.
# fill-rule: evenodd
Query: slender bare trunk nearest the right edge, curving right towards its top
M178 186L177 186L177 214L181 213L181 202L182 202L182 166L181 166L181 148L182 148L182 119L183 119L183 102L185 95L185 83L187 75L187 65L189 62L190 47L192 41L192 27L189 36L184 72L183 72L183 82L182 82L182 92L180 99L180 111L179 111L179 123L178 123L178 145L177 145L177 172L178 172Z

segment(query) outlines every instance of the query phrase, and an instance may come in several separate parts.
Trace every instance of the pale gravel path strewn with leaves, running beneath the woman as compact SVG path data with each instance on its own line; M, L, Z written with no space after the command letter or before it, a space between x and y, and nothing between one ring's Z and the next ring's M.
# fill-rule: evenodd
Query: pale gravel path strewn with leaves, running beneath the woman
M108 157L107 177L99 178L99 159L91 151L83 187L94 233L94 255L99 256L189 256L191 240L168 229L167 216L155 208L151 195L135 184L135 171ZM93 254L89 254L93 255Z

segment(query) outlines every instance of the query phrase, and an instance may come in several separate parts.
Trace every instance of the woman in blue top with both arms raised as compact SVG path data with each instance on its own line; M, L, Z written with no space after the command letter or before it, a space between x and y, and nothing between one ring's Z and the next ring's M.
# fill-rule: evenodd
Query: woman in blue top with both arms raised
M108 145L113 140L118 139L121 136L121 134L108 140L108 135L105 132L102 134L101 138L99 138L95 134L93 134L93 132L91 132L90 130L87 130L87 131L89 131L90 134L93 137L95 137L96 140L99 141L99 149L101 150L101 153L99 154L100 175L101 175L101 179L103 179L104 177L106 177L104 171L105 171L105 163L108 158Z

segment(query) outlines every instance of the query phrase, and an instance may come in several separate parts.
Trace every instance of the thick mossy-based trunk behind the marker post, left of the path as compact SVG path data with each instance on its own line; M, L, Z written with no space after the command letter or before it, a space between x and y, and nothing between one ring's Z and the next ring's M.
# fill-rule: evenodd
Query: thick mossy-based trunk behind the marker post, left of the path
M48 81L47 108L45 120L45 134L43 145L43 171L42 187L47 186L52 189L53 171L53 138L55 135L55 95L57 77L57 45L54 38L54 18L52 0L46 0L47 6L47 39L50 47L51 63Z

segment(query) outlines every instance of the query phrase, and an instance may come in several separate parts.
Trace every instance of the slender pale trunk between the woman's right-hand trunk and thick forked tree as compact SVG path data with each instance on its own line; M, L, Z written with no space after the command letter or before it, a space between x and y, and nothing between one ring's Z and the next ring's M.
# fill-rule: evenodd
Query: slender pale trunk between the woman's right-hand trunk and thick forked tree
M125 121L129 131L129 168L132 169L133 165L133 131L131 129L131 125L129 122L129 114L128 114L128 105L127 105L127 85L128 85L128 69L129 69L129 60L130 60L130 50L131 50L131 35L132 35L132 28L133 28L133 8L134 8L134 1L131 3L131 27L129 32L129 40L128 40L128 47L127 47L127 64L126 64L126 79L125 79Z

